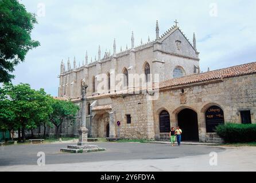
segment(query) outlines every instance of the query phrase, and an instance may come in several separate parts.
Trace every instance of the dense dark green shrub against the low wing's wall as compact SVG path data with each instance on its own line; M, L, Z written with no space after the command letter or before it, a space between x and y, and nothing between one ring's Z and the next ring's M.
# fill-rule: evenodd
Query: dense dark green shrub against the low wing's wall
M256 124L222 124L216 133L227 143L256 142Z

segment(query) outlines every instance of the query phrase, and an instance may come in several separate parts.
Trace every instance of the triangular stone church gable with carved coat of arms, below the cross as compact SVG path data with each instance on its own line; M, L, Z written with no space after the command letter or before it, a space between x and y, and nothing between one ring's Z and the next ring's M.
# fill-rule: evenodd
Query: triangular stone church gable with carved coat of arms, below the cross
M163 51L198 58L196 50L193 48L184 34L181 33L180 29L174 30L169 35L167 34L161 39L161 41Z

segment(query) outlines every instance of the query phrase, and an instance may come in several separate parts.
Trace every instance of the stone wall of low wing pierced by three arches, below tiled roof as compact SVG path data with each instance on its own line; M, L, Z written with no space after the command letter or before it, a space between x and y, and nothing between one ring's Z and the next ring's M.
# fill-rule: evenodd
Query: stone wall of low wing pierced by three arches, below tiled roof
M241 123L239 110L251 110L252 123L256 123L256 75L226 78L216 83L201 83L199 86L184 86L160 92L153 102L156 137L160 137L159 114L167 110L171 126L177 126L177 114L183 109L197 113L201 142L220 141L215 133L206 133L205 111L212 105L223 109L224 121ZM181 92L184 89L184 94Z

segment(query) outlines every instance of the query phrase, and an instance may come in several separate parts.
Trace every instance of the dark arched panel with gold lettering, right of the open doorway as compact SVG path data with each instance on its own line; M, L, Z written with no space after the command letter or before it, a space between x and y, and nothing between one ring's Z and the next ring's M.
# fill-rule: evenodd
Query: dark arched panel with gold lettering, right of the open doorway
M216 126L224 124L223 110L216 105L211 106L205 112L206 132L214 133Z

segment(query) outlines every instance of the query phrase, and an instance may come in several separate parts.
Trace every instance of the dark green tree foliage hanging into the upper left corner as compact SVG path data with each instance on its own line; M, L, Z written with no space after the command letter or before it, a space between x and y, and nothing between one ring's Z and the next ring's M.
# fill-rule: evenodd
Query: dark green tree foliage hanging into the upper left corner
M17 0L0 0L0 83L10 82L14 66L24 62L29 50L40 46L31 38L36 23L36 15Z

